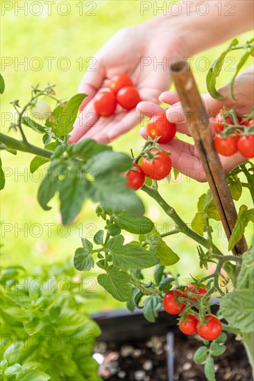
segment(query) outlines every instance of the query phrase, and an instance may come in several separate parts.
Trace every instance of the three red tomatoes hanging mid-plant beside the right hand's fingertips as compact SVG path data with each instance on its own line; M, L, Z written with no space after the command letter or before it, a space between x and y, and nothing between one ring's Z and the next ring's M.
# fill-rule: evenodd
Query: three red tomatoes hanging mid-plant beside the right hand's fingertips
M158 143L169 143L176 135L176 125L167 120L166 114L155 114L146 125L146 132ZM172 163L169 154L160 148L153 148L144 153L142 161L135 163L126 175L127 186L138 190L144 185L146 177L162 180L171 171Z

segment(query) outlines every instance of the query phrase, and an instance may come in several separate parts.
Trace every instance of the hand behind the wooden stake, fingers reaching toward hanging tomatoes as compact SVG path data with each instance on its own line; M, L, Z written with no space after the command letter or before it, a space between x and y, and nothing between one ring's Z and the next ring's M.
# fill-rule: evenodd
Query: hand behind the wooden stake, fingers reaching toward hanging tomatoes
M236 100L233 100L229 96L229 85L219 89L221 94L227 96L224 100L215 100L210 96L210 94L202 95L203 103L205 104L205 108L207 109L210 117L218 114L223 106L228 107L228 109L237 107L237 111L240 114L246 114L249 112L250 107L253 106L254 100L253 68L254 67L249 68L242 73L241 76L237 77L234 87ZM166 91L160 95L159 100L163 103L171 105L171 107L167 109L166 114L171 123L176 123L177 131L180 134L190 136L189 128L187 127L185 116L183 114L183 109L178 101L178 95L175 92ZM152 114L165 112L165 109L151 102L141 102L137 105L137 111L144 116L151 117ZM147 139L146 127L142 127L140 134L144 137L144 139ZM173 141L169 144L162 145L162 148L171 151L173 168L176 168L184 175L192 177L197 181L206 181L205 172L194 144L187 143L180 139L173 139ZM224 157L221 155L219 155L219 157L226 172L229 172L240 163L244 163L244 161L246 161L246 158L239 153L234 154L231 157Z

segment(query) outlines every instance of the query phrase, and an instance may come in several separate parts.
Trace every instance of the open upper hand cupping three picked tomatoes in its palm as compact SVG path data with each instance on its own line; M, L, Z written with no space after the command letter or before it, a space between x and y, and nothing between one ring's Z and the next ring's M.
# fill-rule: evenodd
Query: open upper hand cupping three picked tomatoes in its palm
M148 26L149 25L149 26ZM167 34L167 38L166 38ZM99 143L108 143L125 134L140 122L140 114L117 106L112 116L99 116L93 105L96 93L108 87L110 78L117 73L126 73L133 80L142 100L158 103L158 96L169 89L170 78L167 67L159 64L166 57L178 56L178 48L184 52L180 36L141 24L119 30L95 55L95 71L87 71L79 91L88 94L81 105L81 115L74 123L69 143L92 138Z

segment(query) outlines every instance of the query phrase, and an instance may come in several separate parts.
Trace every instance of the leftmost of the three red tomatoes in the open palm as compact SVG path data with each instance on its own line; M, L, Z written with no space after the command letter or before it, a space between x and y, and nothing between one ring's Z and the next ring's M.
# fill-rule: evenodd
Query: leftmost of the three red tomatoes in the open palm
M101 116L110 116L114 114L117 108L117 98L112 91L99 91L94 96L94 109Z

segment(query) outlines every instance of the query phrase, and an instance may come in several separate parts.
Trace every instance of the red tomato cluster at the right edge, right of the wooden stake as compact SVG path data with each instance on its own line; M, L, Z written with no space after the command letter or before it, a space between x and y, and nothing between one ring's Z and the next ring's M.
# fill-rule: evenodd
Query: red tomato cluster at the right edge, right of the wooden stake
M226 123L225 123L226 122ZM234 129L235 123L232 118L228 116L225 118L225 122L222 114L217 114L214 117L213 126L216 136L214 137L214 148L219 154L223 156L232 156L233 154L239 152L246 159L251 159L254 157L254 134L249 134L248 136L240 136L239 134L242 130ZM253 127L253 119L250 118L246 121L242 120L241 116L237 116L237 122L241 127ZM223 137L220 132L223 132L226 125L231 125L232 134Z

